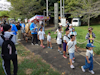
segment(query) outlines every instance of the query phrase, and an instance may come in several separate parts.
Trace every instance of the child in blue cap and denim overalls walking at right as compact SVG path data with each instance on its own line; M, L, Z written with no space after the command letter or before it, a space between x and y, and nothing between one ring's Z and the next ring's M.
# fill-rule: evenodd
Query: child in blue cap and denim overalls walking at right
M91 43L87 44L86 49L86 59L85 59L85 65L81 66L81 69L83 72L85 72L86 69L89 69L89 72L91 74L95 74L93 71L93 50L92 48L95 47Z

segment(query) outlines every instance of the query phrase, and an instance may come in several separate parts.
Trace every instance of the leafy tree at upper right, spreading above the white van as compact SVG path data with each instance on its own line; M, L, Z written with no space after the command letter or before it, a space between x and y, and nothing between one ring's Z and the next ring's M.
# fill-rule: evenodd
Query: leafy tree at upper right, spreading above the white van
M90 26L90 19L100 15L100 1L66 0L66 12L71 13L71 17L83 16L83 20L88 22L88 26Z

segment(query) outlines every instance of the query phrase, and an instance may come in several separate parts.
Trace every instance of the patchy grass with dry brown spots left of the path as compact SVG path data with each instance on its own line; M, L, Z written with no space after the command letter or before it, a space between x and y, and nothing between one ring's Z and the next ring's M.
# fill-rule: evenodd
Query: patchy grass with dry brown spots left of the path
M19 44L18 51L18 74L17 75L61 75L58 71L51 68L49 64L42 60L40 56L34 55ZM0 51L1 53L1 51ZM11 68L13 68L11 66ZM11 70L11 72L13 72ZM0 58L0 75L5 75Z

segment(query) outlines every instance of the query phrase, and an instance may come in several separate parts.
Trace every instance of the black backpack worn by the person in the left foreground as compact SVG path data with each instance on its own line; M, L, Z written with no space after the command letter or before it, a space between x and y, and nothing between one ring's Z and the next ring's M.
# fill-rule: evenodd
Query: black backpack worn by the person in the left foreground
M13 35L11 35L9 39L6 39L3 35L1 35L1 38L4 40L1 55L5 60L14 59L17 56L15 44L11 41L12 37Z

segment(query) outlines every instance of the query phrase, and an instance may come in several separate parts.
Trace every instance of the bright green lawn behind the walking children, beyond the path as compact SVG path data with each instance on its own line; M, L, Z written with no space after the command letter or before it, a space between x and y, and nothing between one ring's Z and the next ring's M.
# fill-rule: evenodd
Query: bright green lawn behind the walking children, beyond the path
M96 35L96 40L98 40L98 41L100 41L100 25L92 25L91 27L93 27L93 32L95 33L95 35ZM76 30L76 32L77 32L77 41L78 42L84 42L84 41L86 41L86 39L85 39L85 36L86 36L86 34L87 34L87 32L88 32L88 26L80 26L80 27L75 27L75 30ZM47 30L46 31L46 35L48 34L48 32L51 32L51 37L52 38L55 38L56 37L56 35L54 34L54 31L51 31L51 30ZM77 46L78 47L80 47L80 48L85 48L86 47L86 44L87 43L85 43L85 44L78 44L77 43ZM96 53L96 54L98 54L98 55L100 55L100 43L98 43L98 42L94 42L94 45L96 46L95 48L94 48L94 52Z

